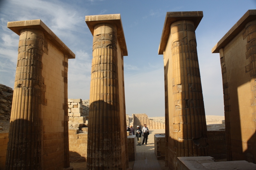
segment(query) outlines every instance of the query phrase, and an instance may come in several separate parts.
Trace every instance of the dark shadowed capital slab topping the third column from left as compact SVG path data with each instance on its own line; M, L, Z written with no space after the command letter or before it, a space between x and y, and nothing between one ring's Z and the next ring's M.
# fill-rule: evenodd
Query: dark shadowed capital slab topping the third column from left
M165 50L169 34L171 32L171 25L173 22L180 20L190 20L194 22L195 30L203 18L203 11L181 11L181 12L167 12L162 37L160 40L158 55L163 54Z

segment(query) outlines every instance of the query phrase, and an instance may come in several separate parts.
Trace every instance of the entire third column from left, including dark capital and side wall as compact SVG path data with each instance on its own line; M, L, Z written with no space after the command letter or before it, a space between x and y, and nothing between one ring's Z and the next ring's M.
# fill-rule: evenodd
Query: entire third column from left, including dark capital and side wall
M164 54L168 166L177 157L208 156L195 30L202 11L167 12L158 54Z

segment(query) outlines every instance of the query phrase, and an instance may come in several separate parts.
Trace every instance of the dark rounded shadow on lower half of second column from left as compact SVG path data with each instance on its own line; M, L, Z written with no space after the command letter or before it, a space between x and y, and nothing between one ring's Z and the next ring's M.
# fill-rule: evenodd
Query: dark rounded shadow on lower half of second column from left
M108 94L100 95L106 97L107 101ZM127 136L126 124L120 127L122 123L118 100L116 94L108 102L98 100L90 104L87 146L88 169L122 169L126 164L126 158L123 157L125 155L124 137Z

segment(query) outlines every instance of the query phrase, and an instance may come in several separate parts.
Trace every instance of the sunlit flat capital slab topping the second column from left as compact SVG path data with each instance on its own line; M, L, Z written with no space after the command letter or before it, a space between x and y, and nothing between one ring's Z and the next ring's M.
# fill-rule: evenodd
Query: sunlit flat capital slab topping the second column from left
M117 39L120 44L120 48L123 52L123 55L124 56L128 55L120 14L89 15L89 16L85 16L85 22L89 27L92 35L94 32L94 26L98 24L106 23L106 24L115 25L117 27Z

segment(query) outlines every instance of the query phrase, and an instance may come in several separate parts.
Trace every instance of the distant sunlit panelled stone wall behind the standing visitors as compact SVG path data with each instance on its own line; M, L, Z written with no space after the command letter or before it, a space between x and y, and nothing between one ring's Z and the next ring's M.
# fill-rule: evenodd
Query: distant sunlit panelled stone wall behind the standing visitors
M137 127L141 125L143 128L144 124L147 124L148 129L165 129L165 123L155 122L153 120L148 119L148 115L145 113L142 114L132 114L133 118L133 127Z

